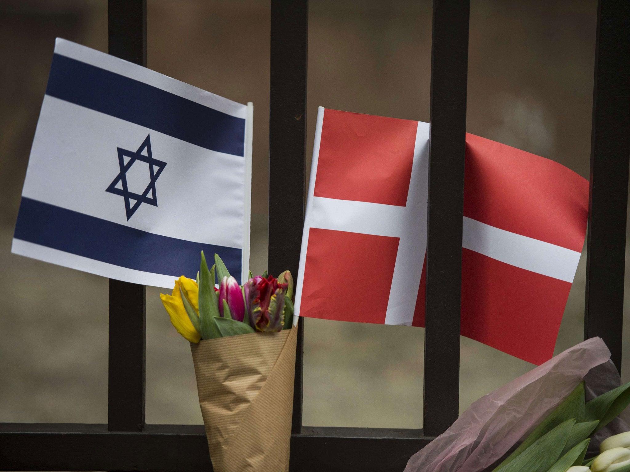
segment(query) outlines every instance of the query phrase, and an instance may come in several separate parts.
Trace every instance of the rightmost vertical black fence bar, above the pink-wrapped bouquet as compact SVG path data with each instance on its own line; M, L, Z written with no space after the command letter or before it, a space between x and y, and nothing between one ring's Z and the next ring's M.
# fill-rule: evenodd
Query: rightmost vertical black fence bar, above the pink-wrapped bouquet
M584 337L604 339L621 372L628 162L630 2L597 6Z

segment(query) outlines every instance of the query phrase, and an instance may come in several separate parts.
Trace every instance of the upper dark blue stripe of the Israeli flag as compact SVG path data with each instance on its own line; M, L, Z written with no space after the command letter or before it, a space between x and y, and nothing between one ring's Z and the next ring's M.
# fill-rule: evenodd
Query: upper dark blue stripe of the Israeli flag
M217 152L244 155L245 120L54 54L46 94Z

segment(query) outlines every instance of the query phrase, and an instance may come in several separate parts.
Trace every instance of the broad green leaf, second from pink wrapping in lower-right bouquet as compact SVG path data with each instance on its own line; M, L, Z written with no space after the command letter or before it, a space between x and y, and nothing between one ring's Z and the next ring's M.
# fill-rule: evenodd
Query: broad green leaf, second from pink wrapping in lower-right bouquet
M560 452L569 439L573 424L575 424L574 419L559 424L537 439L501 470L503 472L547 472L558 461Z

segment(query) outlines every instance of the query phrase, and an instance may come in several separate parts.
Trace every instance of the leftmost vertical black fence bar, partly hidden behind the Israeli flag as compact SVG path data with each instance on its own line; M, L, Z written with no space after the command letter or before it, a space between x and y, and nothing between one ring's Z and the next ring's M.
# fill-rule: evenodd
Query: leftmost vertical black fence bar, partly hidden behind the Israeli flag
M109 0L109 53L147 65L146 0ZM108 429L144 428L146 287L110 279Z

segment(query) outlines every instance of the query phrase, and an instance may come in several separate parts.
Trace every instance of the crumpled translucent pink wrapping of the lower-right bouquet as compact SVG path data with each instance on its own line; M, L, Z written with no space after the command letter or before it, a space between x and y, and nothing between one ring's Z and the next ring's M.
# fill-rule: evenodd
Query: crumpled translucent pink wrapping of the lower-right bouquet
M479 398L444 434L411 456L404 472L483 471L609 358L599 337L561 352Z

